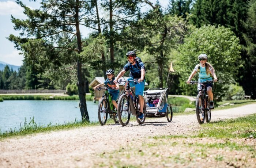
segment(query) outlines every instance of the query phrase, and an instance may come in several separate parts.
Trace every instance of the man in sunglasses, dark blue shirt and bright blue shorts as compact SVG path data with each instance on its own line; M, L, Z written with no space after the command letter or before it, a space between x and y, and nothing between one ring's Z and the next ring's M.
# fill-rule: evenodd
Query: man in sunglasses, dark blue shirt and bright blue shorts
M130 83L130 86L133 87L135 84L135 95L139 98L140 107L144 106L143 91L145 86L145 72L146 68L143 62L136 57L134 51L129 51L126 54L128 63L124 65L124 69L117 75L114 83L117 83L117 80L124 75L125 72L130 70L130 77L128 80L138 79L138 83ZM126 85L125 85L126 86ZM140 108L140 113L138 119L143 119L143 108Z

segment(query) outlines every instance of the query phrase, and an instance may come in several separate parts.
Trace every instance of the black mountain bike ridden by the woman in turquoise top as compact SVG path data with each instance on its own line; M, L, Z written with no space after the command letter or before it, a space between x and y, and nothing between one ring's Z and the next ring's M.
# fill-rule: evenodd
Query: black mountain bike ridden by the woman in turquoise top
M200 89L196 96L196 118L199 124L204 123L204 120L208 123L211 121L211 108L210 98L206 91L206 85L213 83L214 80L208 80L205 82L190 81L189 84L200 84Z

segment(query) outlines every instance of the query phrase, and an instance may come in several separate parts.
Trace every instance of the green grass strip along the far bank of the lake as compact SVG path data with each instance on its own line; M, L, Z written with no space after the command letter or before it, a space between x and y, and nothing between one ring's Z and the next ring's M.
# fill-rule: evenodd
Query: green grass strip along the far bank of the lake
M79 100L78 95L74 96L53 96L53 95L0 95L0 100ZM93 100L93 96L87 95L86 100Z

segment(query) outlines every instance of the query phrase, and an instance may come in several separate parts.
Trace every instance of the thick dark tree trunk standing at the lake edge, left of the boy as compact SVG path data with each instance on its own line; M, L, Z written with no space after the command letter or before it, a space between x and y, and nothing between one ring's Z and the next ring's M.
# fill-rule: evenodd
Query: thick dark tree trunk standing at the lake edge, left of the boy
M76 18L76 38L77 38L77 45L78 45L78 54L82 52L82 41L81 41L81 34L79 29L79 0L76 0L76 9L75 9L75 18ZM87 121L89 122L89 114L86 107L86 99L85 99L85 91L84 91L84 81L82 77L82 63L78 59L77 61L77 77L78 77L78 95L79 95L79 107L80 112L82 115L82 122Z

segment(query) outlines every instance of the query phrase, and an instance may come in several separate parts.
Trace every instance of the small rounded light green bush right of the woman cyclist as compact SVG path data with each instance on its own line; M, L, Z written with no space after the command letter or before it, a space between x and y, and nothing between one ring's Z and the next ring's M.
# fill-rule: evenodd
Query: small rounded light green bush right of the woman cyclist
M242 100L244 99L244 89L238 84L231 84L225 95L226 100Z

